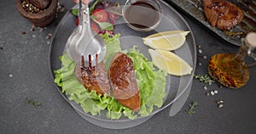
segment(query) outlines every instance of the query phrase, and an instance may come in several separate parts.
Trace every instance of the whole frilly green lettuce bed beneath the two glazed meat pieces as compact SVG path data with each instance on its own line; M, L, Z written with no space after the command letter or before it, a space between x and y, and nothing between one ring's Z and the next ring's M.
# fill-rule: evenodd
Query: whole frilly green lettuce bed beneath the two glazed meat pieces
M103 60L106 70L109 69L113 54L121 51L119 34L115 36L103 35L107 54ZM137 118L137 115L147 116L152 112L154 106L160 108L166 93L166 72L154 70L152 62L148 61L136 47L127 50L127 55L132 59L136 70L137 85L141 95L141 109L138 113L122 106L113 97L107 94L97 94L95 91L88 91L77 80L74 75L75 63L68 57L67 53L60 57L62 67L55 70L55 83L61 87L61 92L65 93L70 101L79 103L85 113L92 115L101 114L102 110L107 110L106 116L109 119L119 119L122 114L129 119Z

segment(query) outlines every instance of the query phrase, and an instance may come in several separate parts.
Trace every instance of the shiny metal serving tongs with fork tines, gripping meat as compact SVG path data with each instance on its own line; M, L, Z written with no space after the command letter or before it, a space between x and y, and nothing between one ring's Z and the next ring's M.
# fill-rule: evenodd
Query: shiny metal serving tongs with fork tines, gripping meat
M81 58L84 56L84 62L89 63L89 55L97 55L95 57L90 56L90 64L95 66L98 62L104 59L106 54L106 44L102 37L96 33L92 33L90 29L90 12L88 4L84 4L79 0L79 25L69 36L66 44L67 54L77 64L81 63ZM89 65L89 64L85 64Z

